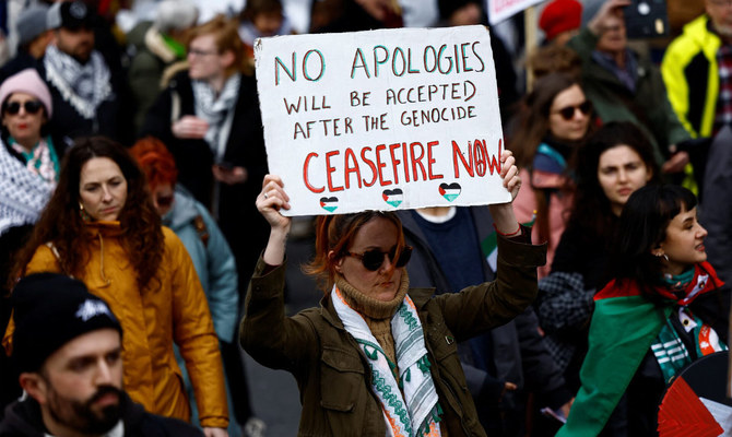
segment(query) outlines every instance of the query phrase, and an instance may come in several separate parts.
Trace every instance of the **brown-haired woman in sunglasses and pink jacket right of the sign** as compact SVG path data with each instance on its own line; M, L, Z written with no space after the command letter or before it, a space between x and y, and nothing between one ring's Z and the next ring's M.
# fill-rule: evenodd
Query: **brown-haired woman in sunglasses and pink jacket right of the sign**
M572 75L550 73L536 81L516 117L508 145L531 187L516 199L516 216L534 222L534 243L548 241L541 279L550 272L571 208L572 155L592 128L592 104Z

